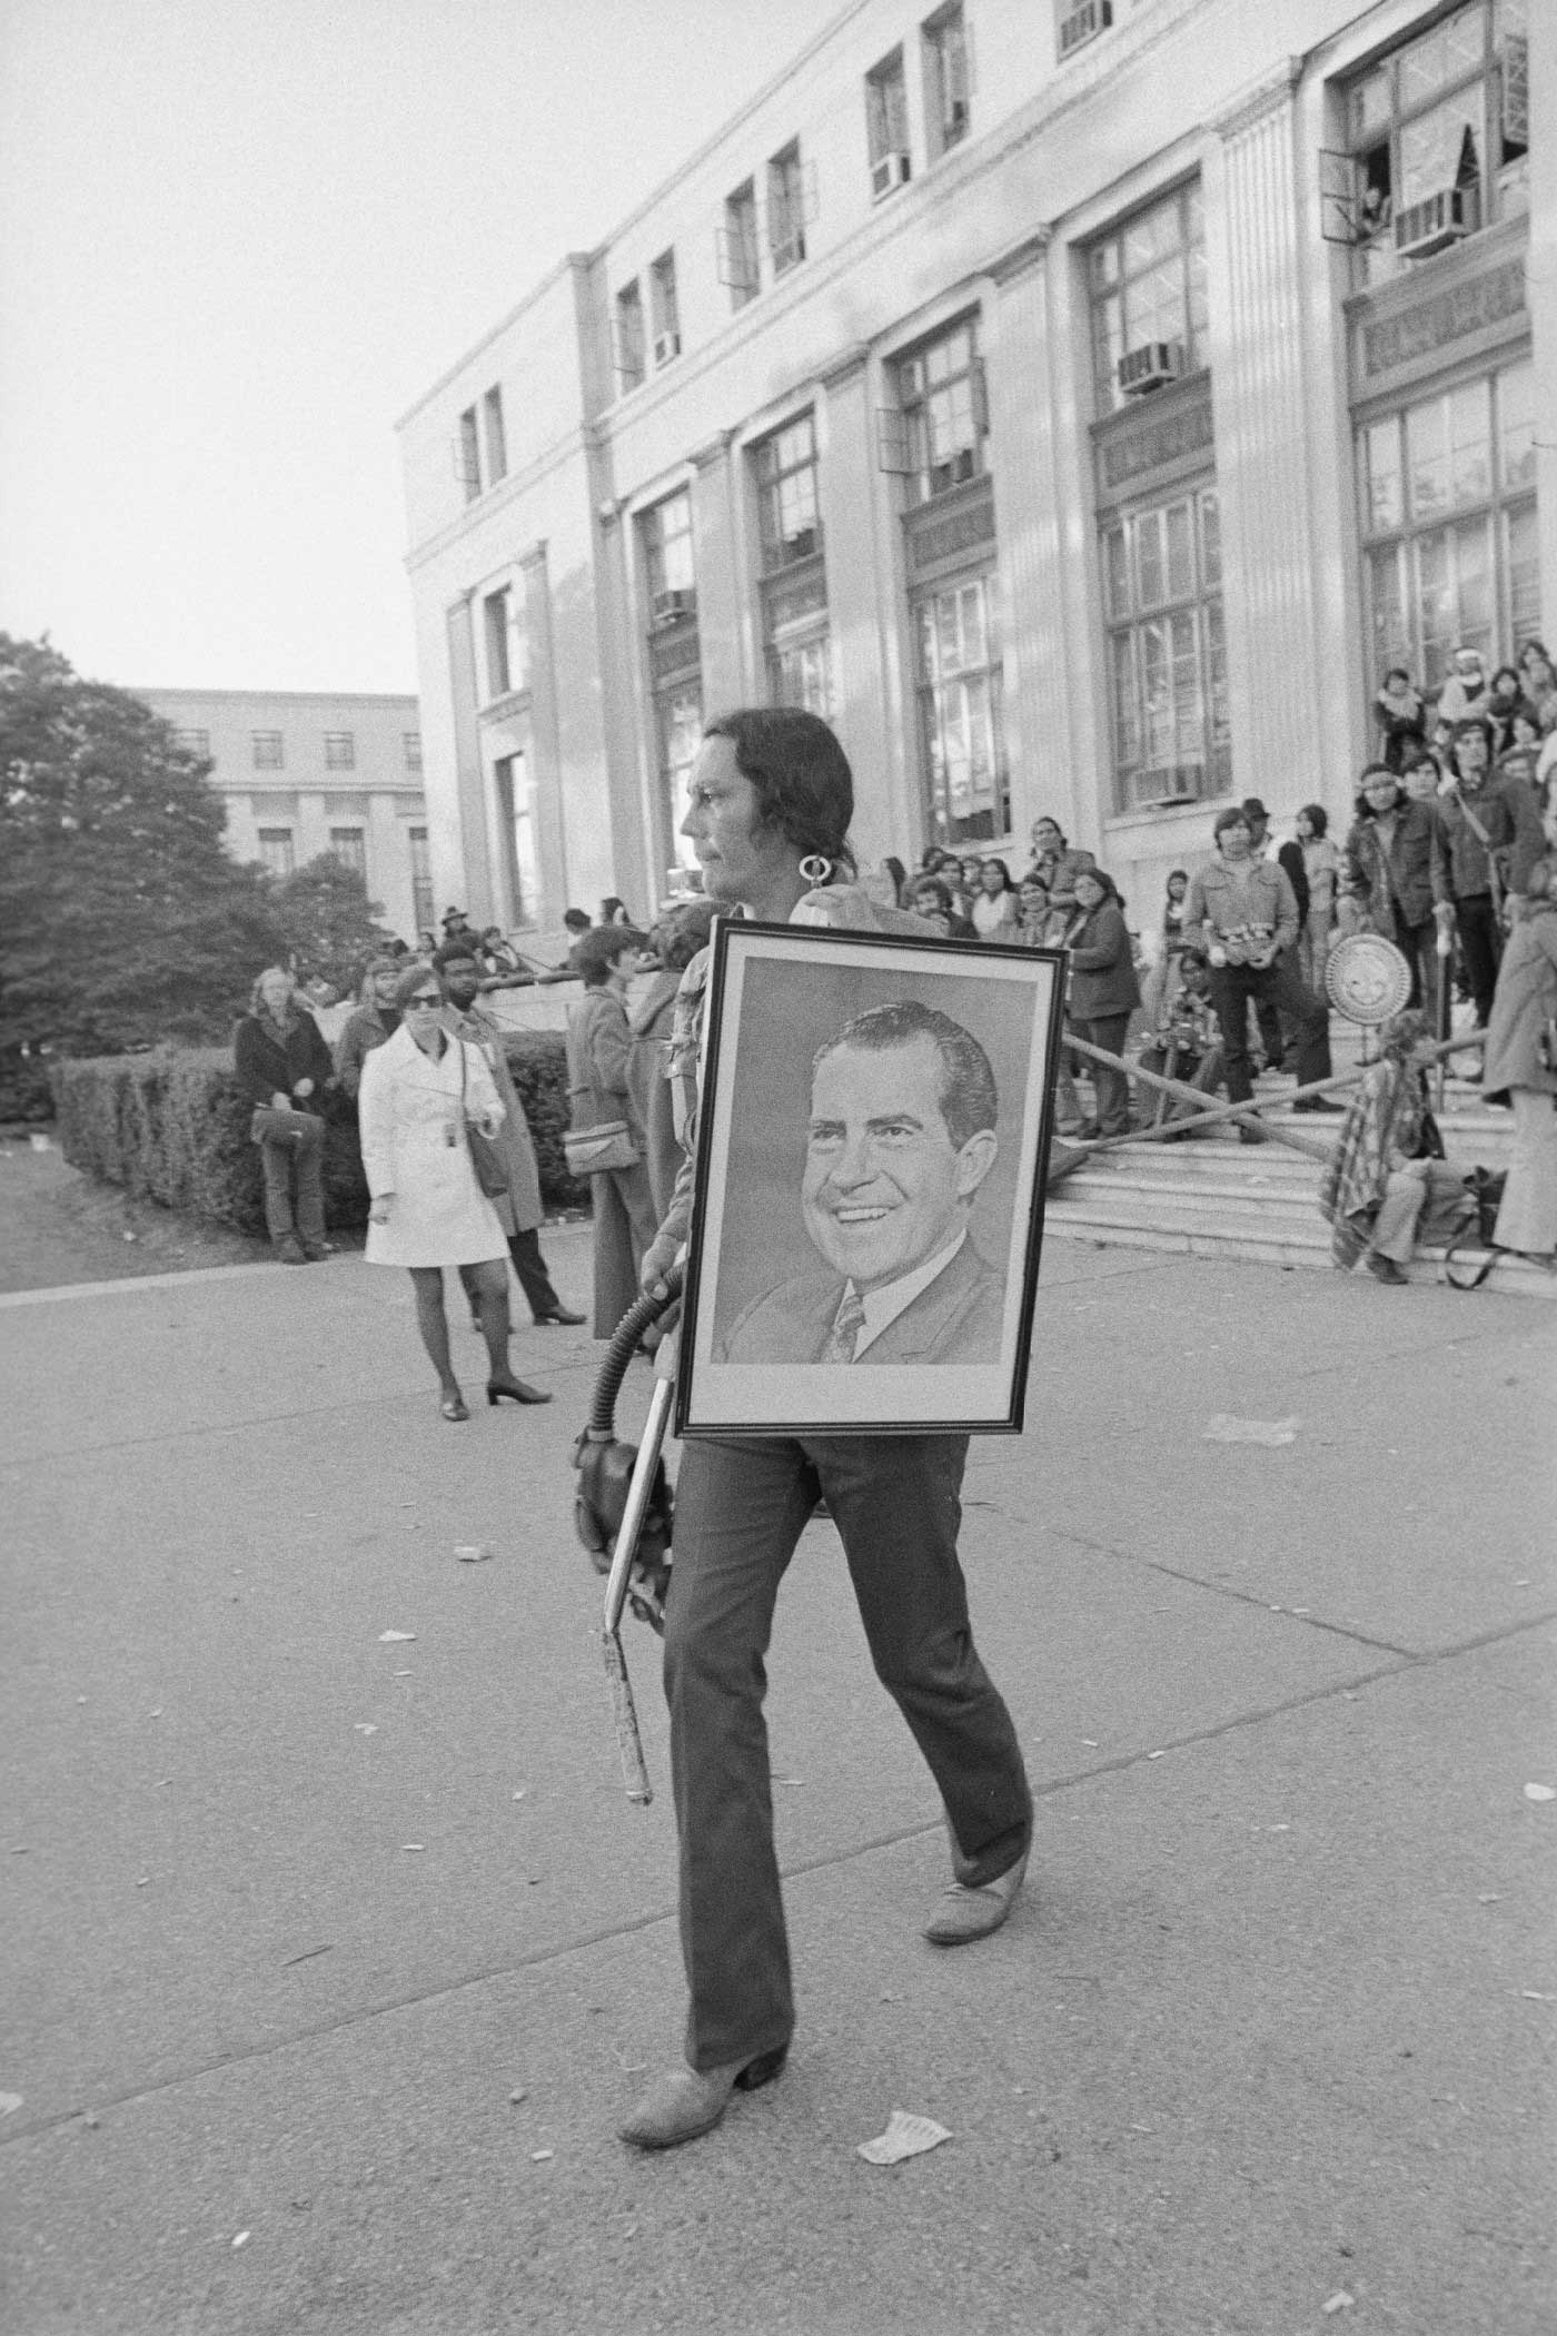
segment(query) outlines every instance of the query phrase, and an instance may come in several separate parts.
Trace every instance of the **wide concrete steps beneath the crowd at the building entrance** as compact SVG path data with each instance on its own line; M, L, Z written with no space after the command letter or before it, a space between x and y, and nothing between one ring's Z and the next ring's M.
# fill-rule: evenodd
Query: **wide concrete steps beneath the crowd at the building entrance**
M1282 1093L1291 1079L1263 1079L1261 1114L1310 1138L1331 1119L1293 1117ZM1485 1110L1473 1086L1450 1086L1440 1112L1447 1156L1461 1166L1508 1168L1513 1117ZM1319 1161L1284 1145L1240 1145L1228 1135L1193 1135L1177 1145L1130 1145L1102 1152L1057 1184L1046 1203L1046 1236L1095 1247L1158 1250L1179 1257L1242 1259L1261 1266L1333 1273L1331 1226L1319 1215ZM1440 1250L1422 1250L1408 1273L1438 1278ZM1557 1301L1557 1273L1529 1259L1499 1257L1487 1289Z

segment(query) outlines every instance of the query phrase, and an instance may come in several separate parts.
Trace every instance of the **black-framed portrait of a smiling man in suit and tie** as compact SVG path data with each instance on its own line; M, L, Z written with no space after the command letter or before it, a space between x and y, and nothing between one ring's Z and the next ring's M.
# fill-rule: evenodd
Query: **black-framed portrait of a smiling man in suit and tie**
M679 1437L1015 1434L1062 951L721 918Z

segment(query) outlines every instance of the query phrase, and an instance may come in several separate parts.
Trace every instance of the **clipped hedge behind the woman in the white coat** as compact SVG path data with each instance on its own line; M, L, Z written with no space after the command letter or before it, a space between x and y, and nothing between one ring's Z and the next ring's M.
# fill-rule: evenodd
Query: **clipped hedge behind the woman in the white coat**
M567 1058L551 1030L504 1040L525 1107L549 1208L588 1208L563 1154ZM264 1233L259 1147L252 1105L233 1084L233 1058L217 1047L156 1049L65 1061L54 1070L58 1140L72 1168L124 1184L135 1198ZM357 1117L338 1103L324 1128L324 1222L366 1219Z

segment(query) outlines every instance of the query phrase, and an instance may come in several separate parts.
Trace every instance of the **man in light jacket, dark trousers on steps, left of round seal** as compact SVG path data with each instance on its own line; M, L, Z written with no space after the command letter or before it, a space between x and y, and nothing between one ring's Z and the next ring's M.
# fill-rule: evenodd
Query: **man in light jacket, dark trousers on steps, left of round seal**
M1331 1018L1321 997L1303 986L1289 951L1298 939L1298 902L1286 871L1251 850L1249 813L1230 804L1212 829L1216 860L1193 878L1184 904L1184 939L1209 965L1212 1004L1228 1049L1228 1103L1254 1100L1249 1068L1249 1000L1268 1000L1298 1033L1298 1086L1331 1077ZM1298 1112L1335 1112L1326 1096L1296 1103ZM1240 1142L1261 1142L1258 1128L1237 1128Z

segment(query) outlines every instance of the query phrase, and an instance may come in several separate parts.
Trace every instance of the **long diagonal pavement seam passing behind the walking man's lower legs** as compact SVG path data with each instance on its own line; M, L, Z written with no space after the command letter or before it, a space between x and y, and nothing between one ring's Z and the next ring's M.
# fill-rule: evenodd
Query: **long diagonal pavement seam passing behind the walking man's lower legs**
M1095 1761L1090 1768L1078 1768L1074 1775L1053 1778L1048 1785L1034 1787L1034 1801L1050 1801L1062 1792L1074 1792L1078 1785L1092 1785L1104 1775L1123 1775L1130 1768L1144 1768L1148 1761L1155 1764L1160 1752L1188 1752L1195 1745L1219 1743L1223 1736L1235 1736L1240 1729L1263 1726L1270 1719L1282 1719L1286 1712L1307 1710L1314 1703L1331 1703L1335 1696L1352 1696L1361 1687L1377 1687L1382 1680L1398 1680L1410 1670L1426 1670L1431 1663L1445 1663L1459 1654L1475 1654L1482 1647L1499 1645L1501 1640L1517 1638L1524 1631L1541 1628L1557 1621L1557 1612L1538 1614L1531 1621L1508 1624L1501 1631L1485 1631L1478 1638L1466 1640L1457 1647L1440 1647L1433 1654L1405 1656L1398 1663L1380 1663L1373 1670L1356 1673L1349 1680L1335 1680L1331 1687L1305 1689L1300 1696L1286 1696L1282 1703L1268 1703L1251 1712L1237 1712L1230 1719L1219 1719L1209 1729L1195 1729L1188 1736L1172 1736L1162 1745L1153 1745L1151 1752L1120 1752L1118 1759ZM784 1880L798 1880L808 1873L826 1873L833 1866L847 1866L857 1857L873 1857L875 1850L894 1850L906 1841L924 1841L929 1836L943 1834L943 1820L931 1817L924 1824L903 1824L896 1831L878 1834L871 1841L854 1841L845 1850L831 1850L826 1857L808 1857L801 1864L782 1866ZM644 1930L656 1930L661 1923L675 1923L677 1909L663 1906L656 1913L635 1916L630 1923L612 1923L607 1930L586 1932L577 1939L563 1939L556 1946L542 1946L532 1955L516 1955L509 1962L493 1962L481 1972L467 1972L462 1979L448 1979L439 1986L416 1988L411 1995L385 1997L376 2004L357 2004L352 2011L341 2011L336 2018L320 2021L315 2028L296 2028L285 2037L268 2037L264 2044L252 2044L240 2051L222 2053L215 2060L201 2060L196 2067L177 2070L173 2077L159 2077L154 2084L131 2084L119 2093L93 2093L91 2109L121 2109L135 2100L154 2100L159 2093L170 2093L182 2084L196 2084L201 2077L217 2077L222 2070L243 2067L247 2060L268 2060L273 2053L292 2051L296 2044L317 2044L322 2037L338 2035L345 2028L357 2028L362 2021L385 2018L395 2011L413 2011L420 2004L434 2004L451 1995L465 1995L467 1988L486 1988L493 1979L509 1979L516 1972L537 1972L549 1962L565 1962L570 1955L586 1955L595 1946L609 1946L616 1939L633 1939ZM84 2116L82 2105L70 2109L58 2109L54 2116L40 2116L33 2123L16 2126L14 2130L0 2135L0 2149L14 2147L16 2142L30 2142L47 2133L58 2133L63 2126L75 2123Z

